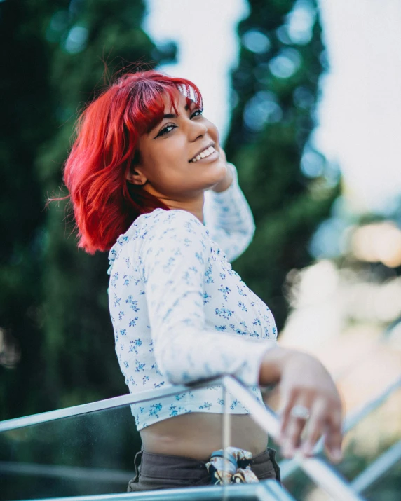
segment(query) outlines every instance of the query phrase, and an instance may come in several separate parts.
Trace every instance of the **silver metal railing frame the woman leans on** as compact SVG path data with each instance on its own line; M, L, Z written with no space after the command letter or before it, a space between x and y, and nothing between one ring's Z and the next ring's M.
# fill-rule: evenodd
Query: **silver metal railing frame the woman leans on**
M269 436L273 437L273 439L278 438L278 430L280 426L279 418L276 416L268 406L263 406L260 402L255 399L254 395L248 390L245 386L233 378L233 376L223 376L220 378L214 378L212 380L203 381L201 383L191 385L191 390L197 390L206 385L221 385L224 392L230 392L234 397L236 397L249 411L251 416L254 418L254 421L261 427L262 430L269 434ZM170 397L175 394L179 394L182 392L186 392L189 390L188 386L184 385L168 385L163 388L158 388L155 390L149 390L145 392L141 392L140 394L126 394L121 397L114 397L111 399L101 400L99 402L92 402L90 404L83 404L79 406L68 407L66 409L59 409L57 411L50 411L40 414L35 414L33 416L25 416L23 418L15 418L11 420L5 420L0 422L0 432L8 432L11 430L17 430L18 428L27 427L31 425L37 425L39 423L48 423L53 422L55 420L60 420L62 418L68 418L72 416L79 416L86 413L93 413L97 411L102 411L105 409L116 409L121 406L126 406L130 404L139 404L141 402L147 402L149 400L154 400L160 397ZM229 446L231 444L230 437L230 419L231 414L229 413L228 400L226 398L226 394L224 394L224 416L223 416L223 448ZM321 448L321 444L318 444L317 448ZM335 470L331 465L328 465L325 460L322 458L304 458L301 455L296 455L294 459L291 460L292 465L299 467L304 470L306 475L320 488L325 490L334 500L341 501L356 501L362 500L362 497L358 494L358 490L355 486L348 483L346 479L344 479L337 470ZM284 468L285 470L285 468ZM285 473L285 472L284 472ZM360 481L361 483L361 481ZM223 486L224 498L235 499L237 498L237 494L243 496L242 499L245 499L245 490L246 494L251 493L252 495L257 497L257 499L292 499L289 493L285 491L285 489L280 488L276 481L261 481L260 484L249 484L244 486ZM234 493L234 489L243 488L240 492L236 491ZM358 487L358 485L357 485ZM200 488L200 495L203 497L196 497L197 488L190 489L191 499L204 499L206 490L205 487ZM215 490L213 490L215 489ZM217 489L217 490L216 490ZM172 495L172 491L174 489L169 490L158 490L158 491L148 491L147 493L135 493L132 494L132 499L140 500L146 499L150 500L167 500L170 499L170 495ZM175 491L175 497L171 497L171 499L184 499L186 489L177 489ZM167 497L163 497L167 496ZM188 493L186 493L188 495ZM218 495L219 497L214 497ZM247 494L248 495L248 494ZM128 497L126 494L123 495L123 499L127 500ZM208 499L221 499L222 498L222 488L217 487L208 488ZM278 497L279 496L279 497ZM54 499L54 498L53 498ZM104 497L104 496L86 496L86 497L74 497L74 498L62 498L64 501L68 499L74 499L75 501L79 500L111 500L111 499L119 499L119 495L114 495L114 497ZM241 497L238 497L241 499Z

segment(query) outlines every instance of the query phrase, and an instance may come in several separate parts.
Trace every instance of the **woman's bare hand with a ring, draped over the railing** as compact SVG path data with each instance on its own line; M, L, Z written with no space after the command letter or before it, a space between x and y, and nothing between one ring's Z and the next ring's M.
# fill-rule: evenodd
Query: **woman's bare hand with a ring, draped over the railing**
M279 383L280 445L285 457L296 450L306 456L325 434L325 448L333 462L341 460L342 404L332 377L311 355L277 347L265 353L259 372L261 386ZM308 420L292 416L294 406L306 407ZM304 439L301 433L306 426Z

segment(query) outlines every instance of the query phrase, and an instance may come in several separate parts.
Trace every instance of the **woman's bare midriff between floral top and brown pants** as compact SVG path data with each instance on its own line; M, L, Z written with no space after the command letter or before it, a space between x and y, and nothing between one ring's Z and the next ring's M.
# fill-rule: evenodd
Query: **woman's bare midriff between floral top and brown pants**
M268 436L249 414L231 414L230 445L257 455L266 450ZM223 415L187 413L164 419L140 430L144 451L208 460L223 447Z

